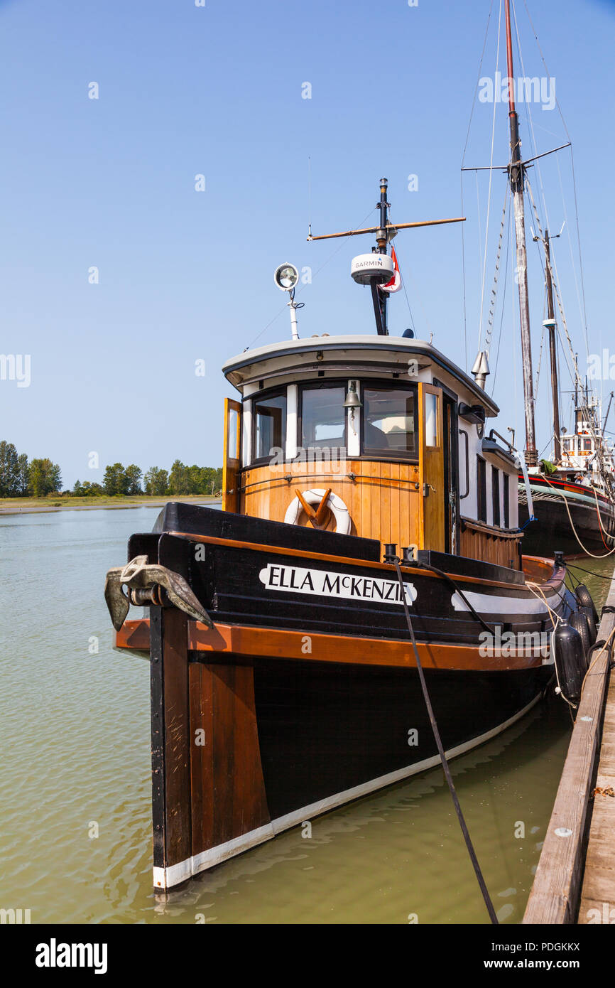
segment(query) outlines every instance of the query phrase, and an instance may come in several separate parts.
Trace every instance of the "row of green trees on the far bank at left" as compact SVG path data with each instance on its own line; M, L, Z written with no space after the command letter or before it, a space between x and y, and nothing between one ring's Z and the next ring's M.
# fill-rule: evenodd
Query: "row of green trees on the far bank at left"
M33 459L18 453L13 443L0 442L0 497L45 497L59 494L74 497L130 497L150 494L154 497L174 494L208 494L222 492L222 467L188 466L176 459L171 470L150 466L145 473L135 463L105 467L103 482L77 480L72 490L62 491L62 475L50 459Z

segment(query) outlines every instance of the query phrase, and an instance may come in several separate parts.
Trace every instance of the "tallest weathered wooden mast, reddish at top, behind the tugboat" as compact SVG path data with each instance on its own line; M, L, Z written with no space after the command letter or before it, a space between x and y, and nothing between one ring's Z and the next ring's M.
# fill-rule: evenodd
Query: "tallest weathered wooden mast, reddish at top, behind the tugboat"
M508 122L510 124L510 164L508 176L514 206L516 239L516 270L519 286L519 315L521 321L521 358L523 364L523 400L525 406L525 459L535 466L536 431L534 427L534 385L532 380L532 341L529 326L529 295L527 288L527 250L525 246L525 204L523 189L525 168L521 161L519 118L514 106L514 75L512 66L512 35L510 31L510 0L506 0L506 60L508 72Z

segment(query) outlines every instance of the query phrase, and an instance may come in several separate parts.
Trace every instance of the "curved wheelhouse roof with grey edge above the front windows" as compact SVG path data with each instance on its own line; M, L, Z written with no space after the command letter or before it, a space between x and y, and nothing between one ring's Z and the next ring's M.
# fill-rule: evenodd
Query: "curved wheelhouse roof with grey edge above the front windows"
M269 377L312 371L310 363L319 352L322 352L319 370L341 370L337 361L342 360L347 371L352 373L361 368L371 373L378 370L403 372L408 367L408 361L414 357L420 368L435 365L451 374L485 407L488 416L493 417L500 412L496 402L472 377L430 343L401 336L311 336L303 340L269 343L232 357L226 361L222 372L231 384L241 390L245 384L263 375L264 365L269 365L272 371L269 371Z

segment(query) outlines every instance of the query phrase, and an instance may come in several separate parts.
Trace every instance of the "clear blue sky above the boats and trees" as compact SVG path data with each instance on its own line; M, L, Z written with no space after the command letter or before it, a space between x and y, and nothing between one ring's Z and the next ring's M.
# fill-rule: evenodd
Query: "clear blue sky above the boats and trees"
M496 68L499 4L483 75ZM599 352L613 346L615 5L527 4L574 141L589 343ZM265 344L289 334L284 299L272 284L281 261L314 272L300 295L300 333L372 332L368 292L348 276L351 257L371 241L308 244L308 221L314 233L357 225L375 206L381 175L389 179L394 219L460 214L459 168L490 6L0 2L0 352L32 358L29 387L0 381L0 438L59 462L66 486L77 477L100 479L115 460L144 469L169 467L176 456L219 464L222 400L233 394L222 364L257 338ZM544 75L523 0L516 8L525 74ZM91 82L100 87L98 100L88 97ZM309 100L302 99L305 82ZM507 123L505 108L497 109L500 164ZM489 163L492 114L493 106L477 105L467 164ZM533 107L532 116L539 151L567 139L557 110ZM194 190L197 174L205 192ZM417 192L408 190L411 174ZM570 229L576 250L570 153L559 166L555 157L543 159L540 177L530 173L538 195L540 178L553 230L568 217L555 250L584 366L578 266L568 240ZM470 364L479 340L488 181L482 173L477 189L474 175L464 179ZM488 296L504 189L495 173ZM433 333L434 345L463 366L459 226L402 232L396 245L418 335ZM530 262L537 362L544 289L533 245ZM98 285L89 284L92 267ZM507 278L495 397L500 431L520 431L516 302ZM390 312L391 332L402 333L410 325L403 292ZM500 309L492 370L499 327ZM199 359L204 377L194 374ZM544 359L542 369L541 446L549 438ZM99 471L88 468L92 451Z

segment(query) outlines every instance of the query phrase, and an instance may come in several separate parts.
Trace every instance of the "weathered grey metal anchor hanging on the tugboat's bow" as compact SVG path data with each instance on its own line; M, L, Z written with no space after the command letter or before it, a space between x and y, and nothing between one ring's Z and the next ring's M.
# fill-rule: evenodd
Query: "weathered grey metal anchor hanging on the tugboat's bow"
M123 592L123 587L128 593ZM172 604L194 620L213 627L211 617L179 573L160 563L148 563L146 555L135 556L125 566L114 566L105 580L105 600L116 631L123 624L130 605L137 607Z

